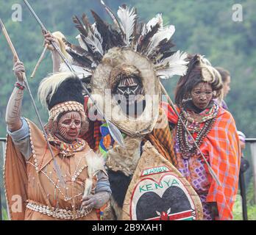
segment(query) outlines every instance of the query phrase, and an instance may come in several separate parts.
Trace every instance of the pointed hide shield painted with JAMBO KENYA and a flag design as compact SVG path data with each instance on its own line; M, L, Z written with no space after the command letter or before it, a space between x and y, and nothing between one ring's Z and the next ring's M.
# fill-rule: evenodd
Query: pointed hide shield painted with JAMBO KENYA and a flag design
M123 220L202 220L202 203L191 184L150 142L132 178Z

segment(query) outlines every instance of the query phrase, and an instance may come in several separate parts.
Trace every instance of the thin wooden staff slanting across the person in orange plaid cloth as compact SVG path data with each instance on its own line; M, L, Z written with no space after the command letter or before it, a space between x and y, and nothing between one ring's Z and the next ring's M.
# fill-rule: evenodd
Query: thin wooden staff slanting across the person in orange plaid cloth
M182 126L185 127L185 130L188 132L188 135L191 137L191 139L193 140L193 144L196 146L196 148L199 150L199 153L202 155L205 163L207 164L208 170L210 172L210 175L214 178L214 180L217 182L217 184L219 186L221 186L221 182L218 180L218 176L216 176L216 173L214 172L213 168L210 166L210 164L207 162L207 160L205 159L205 155L204 153L202 153L201 149L199 148L199 145L196 144L196 140L194 140L192 134L190 131L188 131L187 127L185 126L185 123L183 122L182 118L179 115L179 112L177 111L176 107L174 106L174 102L171 101L171 98L169 97L168 93L166 92L165 87L163 87L163 84L160 82L160 87L162 90L162 93L164 95L166 95L167 99L168 99L168 104L171 105L171 108L174 109L175 114L179 117L180 122L182 123Z

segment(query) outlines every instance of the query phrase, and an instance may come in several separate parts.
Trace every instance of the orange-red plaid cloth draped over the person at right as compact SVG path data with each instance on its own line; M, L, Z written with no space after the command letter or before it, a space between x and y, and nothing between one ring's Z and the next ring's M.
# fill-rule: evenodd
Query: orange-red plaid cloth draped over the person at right
M162 107L168 121L177 124L178 117L171 106L162 103ZM179 108L177 111L180 112ZM218 186L216 181L211 180L206 201L217 203L218 220L232 220L232 207L238 191L241 150L235 120L230 112L219 109L216 123L199 148L205 156L209 156L210 166L221 182L221 186Z

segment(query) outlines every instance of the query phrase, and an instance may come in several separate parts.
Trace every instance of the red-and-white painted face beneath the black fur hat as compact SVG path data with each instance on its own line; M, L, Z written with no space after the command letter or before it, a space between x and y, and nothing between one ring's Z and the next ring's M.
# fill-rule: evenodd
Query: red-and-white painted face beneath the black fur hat
M73 142L77 140L81 130L81 116L79 112L67 112L60 117L58 131L63 140Z

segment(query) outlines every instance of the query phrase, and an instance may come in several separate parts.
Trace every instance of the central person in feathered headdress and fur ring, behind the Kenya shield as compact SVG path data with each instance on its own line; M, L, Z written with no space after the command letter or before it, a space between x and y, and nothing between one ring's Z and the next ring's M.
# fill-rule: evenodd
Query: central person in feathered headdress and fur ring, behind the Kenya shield
M152 159L160 159L157 164L168 165L178 175L174 167L176 159L171 132L165 112L160 108L160 79L184 75L188 62L185 60L185 53L171 50L174 46L171 37L175 28L172 25L164 27L162 15L158 14L147 24L143 24L138 23L134 8L123 5L119 7L116 17L103 1L102 4L113 24L102 21L93 11L96 21L94 24L90 24L85 14L82 15L82 21L74 17L74 23L80 32L77 36L79 46L69 43L63 37L59 38L58 43L65 43L65 50L68 57L71 56L74 70L89 86L107 119L124 134L125 148L113 140L106 123L100 127L102 140L99 151L106 156L113 191L113 214L106 217L124 219L127 218L124 217L126 213L123 213L127 211L124 204L130 198L128 192L132 191L138 179L138 164L143 167L149 164L142 160L146 159L147 154L150 158L152 153ZM46 43L57 40L49 33L45 38ZM60 58L54 51L53 56L54 68L67 71L65 64L60 63ZM94 111L93 107L89 109L89 118L94 117ZM141 157L143 153L145 156ZM150 164L154 164L153 162ZM190 193L193 195L192 191ZM197 205L197 209L193 208L193 211L200 211L200 205ZM172 212L174 211L175 206ZM179 209L177 211L180 212ZM154 217L154 214L157 216L157 211L153 211L149 218ZM131 214L129 216L132 220L141 218L132 217Z

